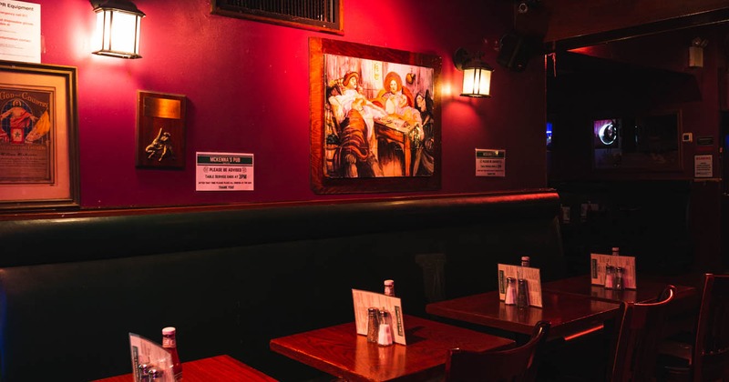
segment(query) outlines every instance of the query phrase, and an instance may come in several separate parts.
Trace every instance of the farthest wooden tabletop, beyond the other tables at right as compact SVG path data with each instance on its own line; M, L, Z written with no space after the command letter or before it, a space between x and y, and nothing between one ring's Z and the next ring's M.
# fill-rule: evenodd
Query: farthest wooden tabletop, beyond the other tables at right
M543 283L541 290L543 292L584 296L609 302L647 303L656 301L669 283L639 275L636 284L638 286L636 289L605 289L604 286L592 285L590 275L582 275ZM693 286L674 286L676 286L676 299L698 295L698 291Z

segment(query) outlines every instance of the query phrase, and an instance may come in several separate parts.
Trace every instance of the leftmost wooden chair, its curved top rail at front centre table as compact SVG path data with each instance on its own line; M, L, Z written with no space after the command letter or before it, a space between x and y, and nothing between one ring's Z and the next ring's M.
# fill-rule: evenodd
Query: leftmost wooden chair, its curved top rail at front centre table
M535 381L548 333L549 322L539 321L529 341L520 347L488 352L451 349L446 360L446 382Z

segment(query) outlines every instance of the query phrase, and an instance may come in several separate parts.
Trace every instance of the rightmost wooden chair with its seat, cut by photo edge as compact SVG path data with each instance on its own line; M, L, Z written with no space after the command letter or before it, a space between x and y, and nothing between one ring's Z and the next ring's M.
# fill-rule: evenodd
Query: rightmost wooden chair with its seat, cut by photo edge
M699 316L690 339L661 343L662 379L729 381L729 275L704 275Z

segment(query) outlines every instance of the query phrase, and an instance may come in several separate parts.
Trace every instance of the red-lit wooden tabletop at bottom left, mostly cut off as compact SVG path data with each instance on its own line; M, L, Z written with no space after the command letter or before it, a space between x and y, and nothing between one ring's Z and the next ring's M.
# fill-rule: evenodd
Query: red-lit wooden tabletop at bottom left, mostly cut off
M230 356L202 358L182 363L182 377L185 382L209 381L265 381L275 382L272 377L250 367ZM133 382L134 376L129 373L123 376L98 379L97 382Z

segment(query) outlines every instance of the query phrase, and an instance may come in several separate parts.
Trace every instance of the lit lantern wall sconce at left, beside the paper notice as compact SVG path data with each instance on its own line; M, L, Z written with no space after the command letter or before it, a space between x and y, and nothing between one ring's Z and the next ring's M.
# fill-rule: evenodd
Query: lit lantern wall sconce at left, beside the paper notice
M97 14L94 55L141 58L139 32L144 13L128 0L91 0Z

